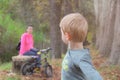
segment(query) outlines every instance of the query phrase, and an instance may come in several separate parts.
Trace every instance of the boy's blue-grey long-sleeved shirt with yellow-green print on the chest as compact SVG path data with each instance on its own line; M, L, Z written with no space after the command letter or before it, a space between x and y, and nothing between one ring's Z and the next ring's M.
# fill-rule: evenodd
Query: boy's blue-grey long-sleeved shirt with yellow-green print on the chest
M92 65L88 49L68 50L62 62L61 80L103 80Z

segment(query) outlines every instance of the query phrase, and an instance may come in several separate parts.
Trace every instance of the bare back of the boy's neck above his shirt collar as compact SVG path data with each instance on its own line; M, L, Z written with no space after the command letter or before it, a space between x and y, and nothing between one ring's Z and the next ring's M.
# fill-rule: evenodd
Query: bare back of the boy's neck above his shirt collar
M68 48L72 50L83 49L83 42L69 42Z

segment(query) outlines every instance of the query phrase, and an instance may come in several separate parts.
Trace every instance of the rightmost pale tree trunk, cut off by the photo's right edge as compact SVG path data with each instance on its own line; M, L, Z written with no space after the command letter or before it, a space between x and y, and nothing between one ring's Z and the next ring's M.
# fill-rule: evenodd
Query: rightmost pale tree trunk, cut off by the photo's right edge
M116 6L115 33L109 62L120 65L120 0L117 0Z

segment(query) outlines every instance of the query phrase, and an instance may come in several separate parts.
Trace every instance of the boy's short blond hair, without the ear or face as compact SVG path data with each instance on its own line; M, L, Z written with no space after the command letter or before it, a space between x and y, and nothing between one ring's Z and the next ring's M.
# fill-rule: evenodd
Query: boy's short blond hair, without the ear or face
M60 28L71 36L73 42L84 42L88 24L86 19L80 13L71 13L66 15L60 22Z

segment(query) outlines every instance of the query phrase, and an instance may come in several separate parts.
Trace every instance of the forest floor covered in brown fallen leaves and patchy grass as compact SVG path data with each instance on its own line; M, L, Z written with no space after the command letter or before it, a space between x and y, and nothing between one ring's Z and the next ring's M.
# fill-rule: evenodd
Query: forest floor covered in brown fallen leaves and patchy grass
M102 58L99 56L98 52L91 49L92 61L95 68L100 72L104 80L120 80L120 67L115 65L103 65L106 62L106 58ZM0 66L0 80L60 80L61 77L61 62L62 59L52 60L51 64L53 67L53 77L45 78L40 74L34 74L31 76L22 76L10 73L11 63L6 64L9 68L5 69L5 65Z

